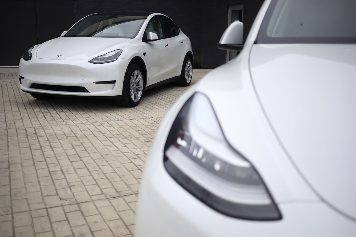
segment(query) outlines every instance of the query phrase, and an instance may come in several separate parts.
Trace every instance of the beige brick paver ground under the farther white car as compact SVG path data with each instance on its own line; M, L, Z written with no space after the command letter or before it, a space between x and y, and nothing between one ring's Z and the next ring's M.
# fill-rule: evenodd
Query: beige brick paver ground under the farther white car
M133 236L147 154L185 90L148 90L135 108L41 101L19 90L17 69L0 69L0 236Z

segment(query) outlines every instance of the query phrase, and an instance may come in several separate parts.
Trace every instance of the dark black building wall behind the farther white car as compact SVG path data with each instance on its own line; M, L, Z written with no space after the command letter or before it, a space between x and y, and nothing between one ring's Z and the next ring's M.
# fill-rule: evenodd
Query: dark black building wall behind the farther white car
M226 63L229 54L234 56L233 52L216 47L226 27L234 20L242 21L246 38L262 3L263 0L5 0L0 3L1 24L8 34L2 39L6 47L0 66L18 66L28 48L59 37L89 14L145 11L172 18L190 38L201 66L216 68Z

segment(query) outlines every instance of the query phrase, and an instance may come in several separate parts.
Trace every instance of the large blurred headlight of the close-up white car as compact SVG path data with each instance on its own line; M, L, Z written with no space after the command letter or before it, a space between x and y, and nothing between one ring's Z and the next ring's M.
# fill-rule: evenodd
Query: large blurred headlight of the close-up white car
M226 141L209 99L195 93L174 120L164 147L164 167L210 208L249 220L279 220L266 185Z

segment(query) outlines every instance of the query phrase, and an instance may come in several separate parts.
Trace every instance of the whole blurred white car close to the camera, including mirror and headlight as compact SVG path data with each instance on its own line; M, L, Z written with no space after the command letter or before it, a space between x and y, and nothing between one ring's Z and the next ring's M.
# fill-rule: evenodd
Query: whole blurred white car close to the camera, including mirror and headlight
M322 4L321 4L322 2ZM266 0L157 131L136 237L356 236L355 1Z

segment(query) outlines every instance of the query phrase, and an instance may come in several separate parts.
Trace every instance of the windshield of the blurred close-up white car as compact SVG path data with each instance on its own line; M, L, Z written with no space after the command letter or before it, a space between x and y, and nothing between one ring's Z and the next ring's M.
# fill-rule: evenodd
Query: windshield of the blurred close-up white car
M272 0L257 43L355 43L355 0Z

